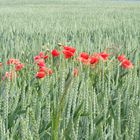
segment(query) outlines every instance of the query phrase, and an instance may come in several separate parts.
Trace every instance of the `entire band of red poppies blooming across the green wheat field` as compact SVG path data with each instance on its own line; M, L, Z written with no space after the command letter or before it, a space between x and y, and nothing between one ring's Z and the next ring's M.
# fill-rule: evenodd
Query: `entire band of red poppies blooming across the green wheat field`
M51 51L51 56L47 51L40 52L39 55L34 57L34 62L38 66L38 72L36 73L36 78L44 78L47 75L52 75L53 70L46 67L46 62L48 58L58 58L61 54L63 54L65 59L74 58L75 61L81 62L84 65L89 65L92 68L95 68L95 66L100 62L106 62L111 54L107 53L106 51L103 51L101 53L93 53L89 55L87 52L81 52L80 54L76 54L76 48L71 46L64 46L60 45L59 51L57 49L53 49ZM131 69L133 68L133 64L130 60L126 58L124 54L118 56L118 61L120 62L120 65L124 69ZM19 61L19 59L10 58L7 61L7 65L12 65L12 70L10 72L6 72L3 79L10 77L12 79L13 76L16 76L17 71L20 71L24 65ZM2 63L0 63L0 68L2 67ZM78 68L74 68L73 75L78 75Z

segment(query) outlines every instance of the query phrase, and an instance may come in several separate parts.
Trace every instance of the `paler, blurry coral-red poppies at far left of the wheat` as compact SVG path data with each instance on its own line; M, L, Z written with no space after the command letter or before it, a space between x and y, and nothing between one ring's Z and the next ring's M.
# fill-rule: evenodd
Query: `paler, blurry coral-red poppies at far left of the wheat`
M17 76L17 71L22 70L22 68L24 67L24 64L21 63L19 59L14 59L14 58L10 58L7 61L7 65L8 66L11 65L12 68L9 72L5 72L5 75L2 77L3 80L5 78L10 78L12 80L13 77ZM2 67L2 63L1 63L1 67Z

